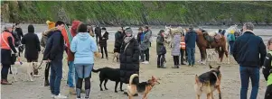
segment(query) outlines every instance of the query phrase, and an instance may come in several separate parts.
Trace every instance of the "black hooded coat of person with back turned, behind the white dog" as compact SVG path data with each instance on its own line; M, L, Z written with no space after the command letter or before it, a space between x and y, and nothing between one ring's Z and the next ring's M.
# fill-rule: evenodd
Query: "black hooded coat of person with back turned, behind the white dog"
M40 40L35 33L27 33L23 36L22 44L25 45L24 58L38 59L41 51Z

